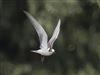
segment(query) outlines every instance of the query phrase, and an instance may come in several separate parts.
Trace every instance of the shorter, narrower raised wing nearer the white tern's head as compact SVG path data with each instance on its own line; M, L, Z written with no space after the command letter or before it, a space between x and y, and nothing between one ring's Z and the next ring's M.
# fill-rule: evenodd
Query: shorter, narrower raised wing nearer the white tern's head
M48 42L48 47L52 48L53 47L53 43L55 42L55 40L57 39L59 32L60 32L60 24L61 24L61 20L59 19L58 24L53 32L53 35L51 37L51 39Z

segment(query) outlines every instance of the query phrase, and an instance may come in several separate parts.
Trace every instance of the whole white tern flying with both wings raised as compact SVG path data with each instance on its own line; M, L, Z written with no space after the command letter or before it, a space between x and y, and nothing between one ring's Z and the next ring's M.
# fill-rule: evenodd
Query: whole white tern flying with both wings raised
M44 61L44 56L50 56L55 53L53 49L53 44L55 40L58 38L60 32L60 25L61 20L59 19L58 24L53 32L51 39L48 41L48 36L42 26L38 23L38 21L28 12L24 11L30 22L32 23L33 27L35 28L40 41L40 49L32 50L31 52L38 53L42 55L41 61Z

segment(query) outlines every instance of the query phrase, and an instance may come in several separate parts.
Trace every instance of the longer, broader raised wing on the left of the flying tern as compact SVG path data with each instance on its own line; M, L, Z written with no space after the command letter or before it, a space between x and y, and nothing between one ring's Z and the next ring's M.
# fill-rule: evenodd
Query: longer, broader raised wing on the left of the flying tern
M29 18L30 22L32 23L32 25L36 29L36 32L38 33L39 40L40 40L40 48L47 48L47 40L48 40L48 37L47 37L47 34L46 34L45 30L34 19L34 17L31 14L29 14L26 11L24 11L24 13L27 15L27 17Z

